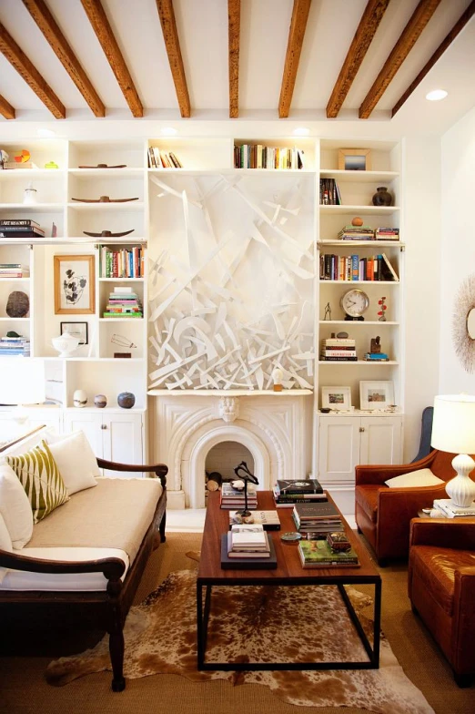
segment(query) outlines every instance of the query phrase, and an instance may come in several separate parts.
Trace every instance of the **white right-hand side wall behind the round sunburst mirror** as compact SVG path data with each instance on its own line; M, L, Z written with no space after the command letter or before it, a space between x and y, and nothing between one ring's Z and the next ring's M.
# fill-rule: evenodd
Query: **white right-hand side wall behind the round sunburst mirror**
M451 321L460 285L475 274L475 108L441 139L442 274L440 280L439 393L475 394L452 342Z

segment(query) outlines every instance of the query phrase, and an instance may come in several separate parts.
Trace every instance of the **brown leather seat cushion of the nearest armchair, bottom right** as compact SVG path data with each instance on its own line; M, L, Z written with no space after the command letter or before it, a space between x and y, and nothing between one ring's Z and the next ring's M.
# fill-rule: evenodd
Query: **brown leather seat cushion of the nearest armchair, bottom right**
M414 571L451 617L455 571L463 566L475 566L475 553L440 546L412 546L410 558Z

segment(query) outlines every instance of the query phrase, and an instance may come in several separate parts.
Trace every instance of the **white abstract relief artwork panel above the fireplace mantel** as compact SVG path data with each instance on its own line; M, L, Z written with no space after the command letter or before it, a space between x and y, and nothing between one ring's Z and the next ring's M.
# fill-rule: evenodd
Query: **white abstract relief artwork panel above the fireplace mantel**
M312 388L314 179L150 178L149 388ZM157 247L157 248L155 248Z

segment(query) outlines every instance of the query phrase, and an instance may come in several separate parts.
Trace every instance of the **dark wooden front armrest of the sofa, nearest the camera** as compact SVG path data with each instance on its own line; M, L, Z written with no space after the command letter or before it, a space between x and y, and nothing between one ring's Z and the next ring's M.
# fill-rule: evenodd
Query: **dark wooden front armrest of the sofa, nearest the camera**
M18 556L0 549L0 567L12 570L24 570L30 573L103 573L107 580L119 580L126 570L123 560L116 557L99 558L97 560L66 561L46 560Z

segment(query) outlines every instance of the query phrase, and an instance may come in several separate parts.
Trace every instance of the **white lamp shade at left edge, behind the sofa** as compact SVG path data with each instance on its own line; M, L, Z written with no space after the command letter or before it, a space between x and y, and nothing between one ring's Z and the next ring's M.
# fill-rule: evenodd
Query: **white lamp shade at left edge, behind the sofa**
M45 402L45 362L32 357L7 357L0 366L1 404Z

